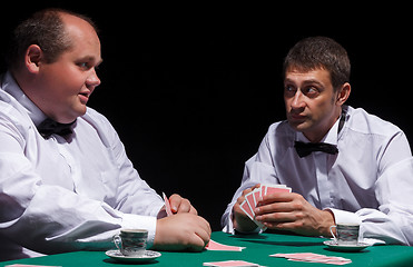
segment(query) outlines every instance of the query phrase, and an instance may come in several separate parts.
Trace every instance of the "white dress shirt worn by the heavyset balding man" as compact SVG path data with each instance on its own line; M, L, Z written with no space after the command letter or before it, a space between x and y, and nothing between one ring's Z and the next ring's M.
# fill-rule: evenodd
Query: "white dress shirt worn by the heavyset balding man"
M94 109L69 138L43 139L46 116L7 72L0 89L0 260L114 247L125 228L149 230L164 202ZM35 251L33 251L35 250Z

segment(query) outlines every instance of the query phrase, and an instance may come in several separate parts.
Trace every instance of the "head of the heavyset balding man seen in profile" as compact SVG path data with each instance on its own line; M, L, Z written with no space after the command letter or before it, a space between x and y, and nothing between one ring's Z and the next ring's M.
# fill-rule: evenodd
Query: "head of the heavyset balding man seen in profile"
M22 43L10 70L24 95L58 122L85 115L90 95L100 85L95 68L102 60L94 24L68 11L45 10L17 31Z

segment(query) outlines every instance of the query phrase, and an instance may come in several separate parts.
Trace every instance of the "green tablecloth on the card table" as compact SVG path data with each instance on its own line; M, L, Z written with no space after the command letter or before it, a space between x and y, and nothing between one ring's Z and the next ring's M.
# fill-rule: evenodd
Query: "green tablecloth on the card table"
M309 263L288 261L284 258L269 257L276 253L315 253L328 256L340 256L352 259L346 266L413 266L413 247L405 246L374 246L361 253L340 253L327 250L323 245L325 239L291 235L262 234L253 236L227 235L220 231L213 233L212 238L225 245L246 247L243 251L203 251L203 253L165 253L148 266L203 266L206 261L243 259L263 266L312 266ZM63 266L63 267L95 267L95 266L130 266L117 264L105 255L105 251L78 251L47 257L21 259L0 263L0 266L11 264ZM328 266L325 264L318 264Z

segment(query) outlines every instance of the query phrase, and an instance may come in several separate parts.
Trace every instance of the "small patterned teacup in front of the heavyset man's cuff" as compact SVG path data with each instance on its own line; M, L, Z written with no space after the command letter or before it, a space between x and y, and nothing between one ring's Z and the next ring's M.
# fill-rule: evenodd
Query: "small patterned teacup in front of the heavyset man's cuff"
M125 256L140 257L146 250L148 230L121 229L119 235L114 236L114 243Z

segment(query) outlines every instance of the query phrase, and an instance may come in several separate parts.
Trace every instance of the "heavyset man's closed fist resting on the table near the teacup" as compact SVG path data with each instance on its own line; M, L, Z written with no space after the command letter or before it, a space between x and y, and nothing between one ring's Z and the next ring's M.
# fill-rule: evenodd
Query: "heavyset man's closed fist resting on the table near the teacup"
M157 220L154 249L200 251L208 244L210 233L204 218L179 212Z

